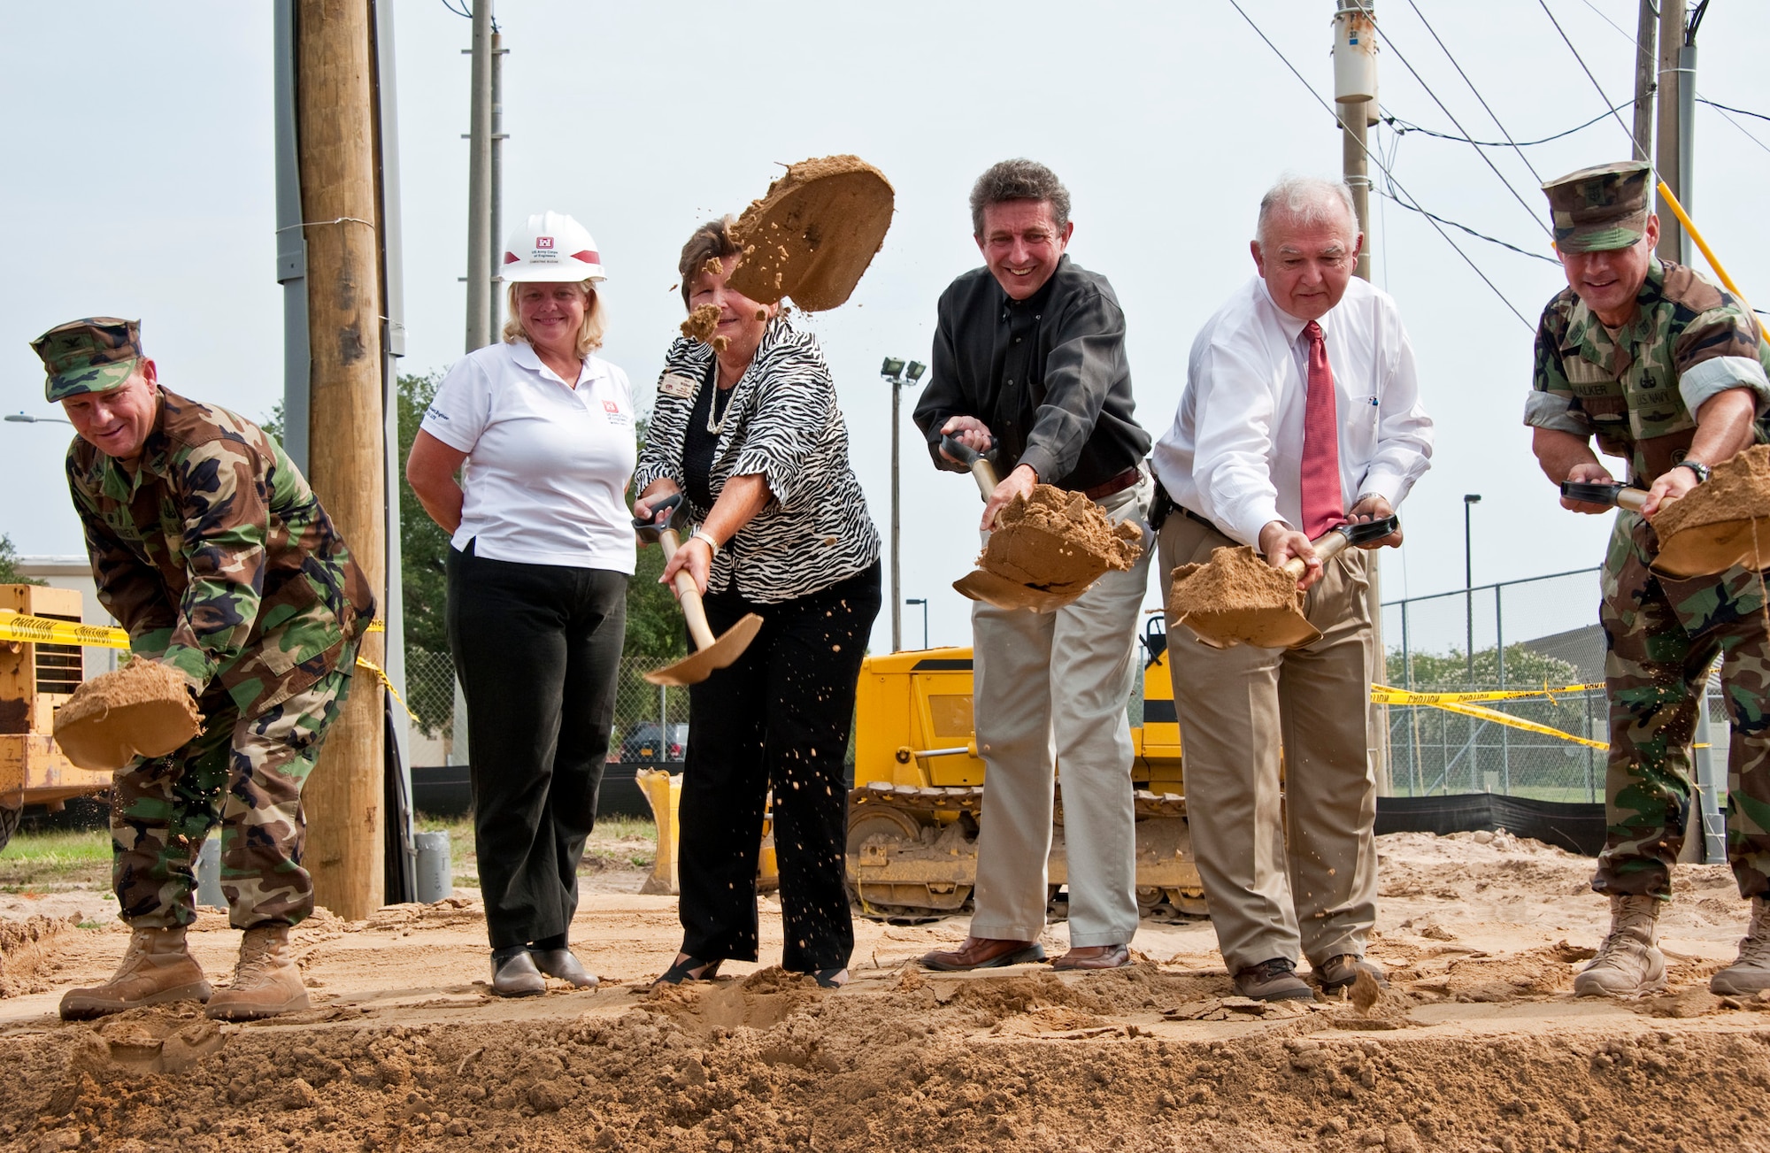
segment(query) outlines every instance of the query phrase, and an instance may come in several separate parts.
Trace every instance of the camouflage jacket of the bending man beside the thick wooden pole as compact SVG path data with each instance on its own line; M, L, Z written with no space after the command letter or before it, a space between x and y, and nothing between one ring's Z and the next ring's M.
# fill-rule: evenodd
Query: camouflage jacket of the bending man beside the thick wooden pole
M333 672L375 598L276 440L159 394L135 467L78 439L67 453L92 578L133 653L257 716Z

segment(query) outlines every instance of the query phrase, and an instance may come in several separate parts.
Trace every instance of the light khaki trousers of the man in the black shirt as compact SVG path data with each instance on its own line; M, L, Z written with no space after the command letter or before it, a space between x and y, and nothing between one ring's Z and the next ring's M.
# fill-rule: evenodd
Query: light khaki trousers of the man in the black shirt
M1057 612L972 607L972 702L984 808L977 835L974 937L1044 932L1051 787L1062 764L1069 944L1129 944L1136 934L1136 813L1126 700L1138 672L1136 615L1152 534L1143 481L1101 500L1143 529L1143 555Z

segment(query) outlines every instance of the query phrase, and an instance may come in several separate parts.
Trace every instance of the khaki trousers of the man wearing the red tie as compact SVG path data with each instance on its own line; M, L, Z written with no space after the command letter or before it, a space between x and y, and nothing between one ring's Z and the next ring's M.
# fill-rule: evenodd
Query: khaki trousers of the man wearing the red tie
M1168 516L1163 603L1175 566L1234 543ZM1301 649L1212 649L1168 619L1186 817L1230 974L1299 951L1313 966L1363 955L1377 920L1368 564L1351 548L1324 566L1304 599L1322 637Z

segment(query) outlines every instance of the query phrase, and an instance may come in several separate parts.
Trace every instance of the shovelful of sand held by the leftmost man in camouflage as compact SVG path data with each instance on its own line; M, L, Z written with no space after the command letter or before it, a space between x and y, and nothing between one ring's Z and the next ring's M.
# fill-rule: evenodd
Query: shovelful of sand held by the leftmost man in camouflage
M136 658L92 677L55 711L55 743L81 769L120 769L135 757L165 757L202 730L184 677Z

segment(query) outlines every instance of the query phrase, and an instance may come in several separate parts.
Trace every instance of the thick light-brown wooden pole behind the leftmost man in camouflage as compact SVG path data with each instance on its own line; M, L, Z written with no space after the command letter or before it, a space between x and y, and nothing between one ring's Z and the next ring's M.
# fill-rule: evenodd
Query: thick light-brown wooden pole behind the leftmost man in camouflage
M366 0L299 0L301 219L313 361L308 483L386 603L382 285L375 219L375 110ZM361 656L384 663L382 635ZM356 670L343 714L308 778L313 897L347 920L381 907L382 688Z

